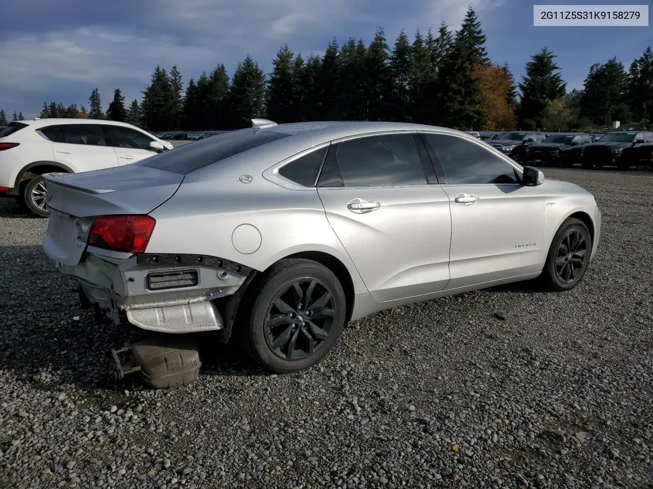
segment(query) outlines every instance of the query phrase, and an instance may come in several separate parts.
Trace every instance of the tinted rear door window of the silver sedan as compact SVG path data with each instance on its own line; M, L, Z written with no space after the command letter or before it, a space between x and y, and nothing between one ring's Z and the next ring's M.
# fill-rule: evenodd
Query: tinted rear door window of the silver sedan
M329 149L320 186L426 185L426 175L410 134L344 141ZM339 173L334 179L334 173ZM328 176L328 179L327 179ZM328 182L327 182L328 180Z

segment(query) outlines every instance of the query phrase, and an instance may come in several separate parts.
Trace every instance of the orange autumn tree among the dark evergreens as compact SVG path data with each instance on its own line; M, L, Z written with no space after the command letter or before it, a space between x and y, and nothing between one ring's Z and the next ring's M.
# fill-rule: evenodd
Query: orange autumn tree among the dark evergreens
M513 75L500 65L480 65L472 72L480 91L481 106L486 130L513 130L515 105L511 102Z

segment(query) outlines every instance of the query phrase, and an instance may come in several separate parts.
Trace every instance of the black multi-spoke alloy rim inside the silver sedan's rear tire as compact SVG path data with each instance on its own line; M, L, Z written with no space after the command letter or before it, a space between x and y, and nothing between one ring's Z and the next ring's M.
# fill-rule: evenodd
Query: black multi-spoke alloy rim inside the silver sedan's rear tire
M298 361L323 348L333 329L336 301L320 280L296 278L270 301L265 319L268 347L279 358Z

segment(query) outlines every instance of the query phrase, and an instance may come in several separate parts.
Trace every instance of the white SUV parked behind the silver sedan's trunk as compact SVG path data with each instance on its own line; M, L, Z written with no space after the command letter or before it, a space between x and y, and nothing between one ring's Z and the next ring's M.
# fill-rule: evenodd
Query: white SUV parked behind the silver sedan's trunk
M126 165L172 149L133 125L96 119L14 121L0 132L0 197L47 217L42 175Z

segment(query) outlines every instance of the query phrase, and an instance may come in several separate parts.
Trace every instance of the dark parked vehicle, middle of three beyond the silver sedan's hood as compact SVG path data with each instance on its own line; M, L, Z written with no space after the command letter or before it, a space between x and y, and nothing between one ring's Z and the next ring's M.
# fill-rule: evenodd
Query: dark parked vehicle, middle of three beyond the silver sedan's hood
M581 162L581 148L592 142L589 134L556 132L541 143L524 149L523 163L533 166L571 168Z

